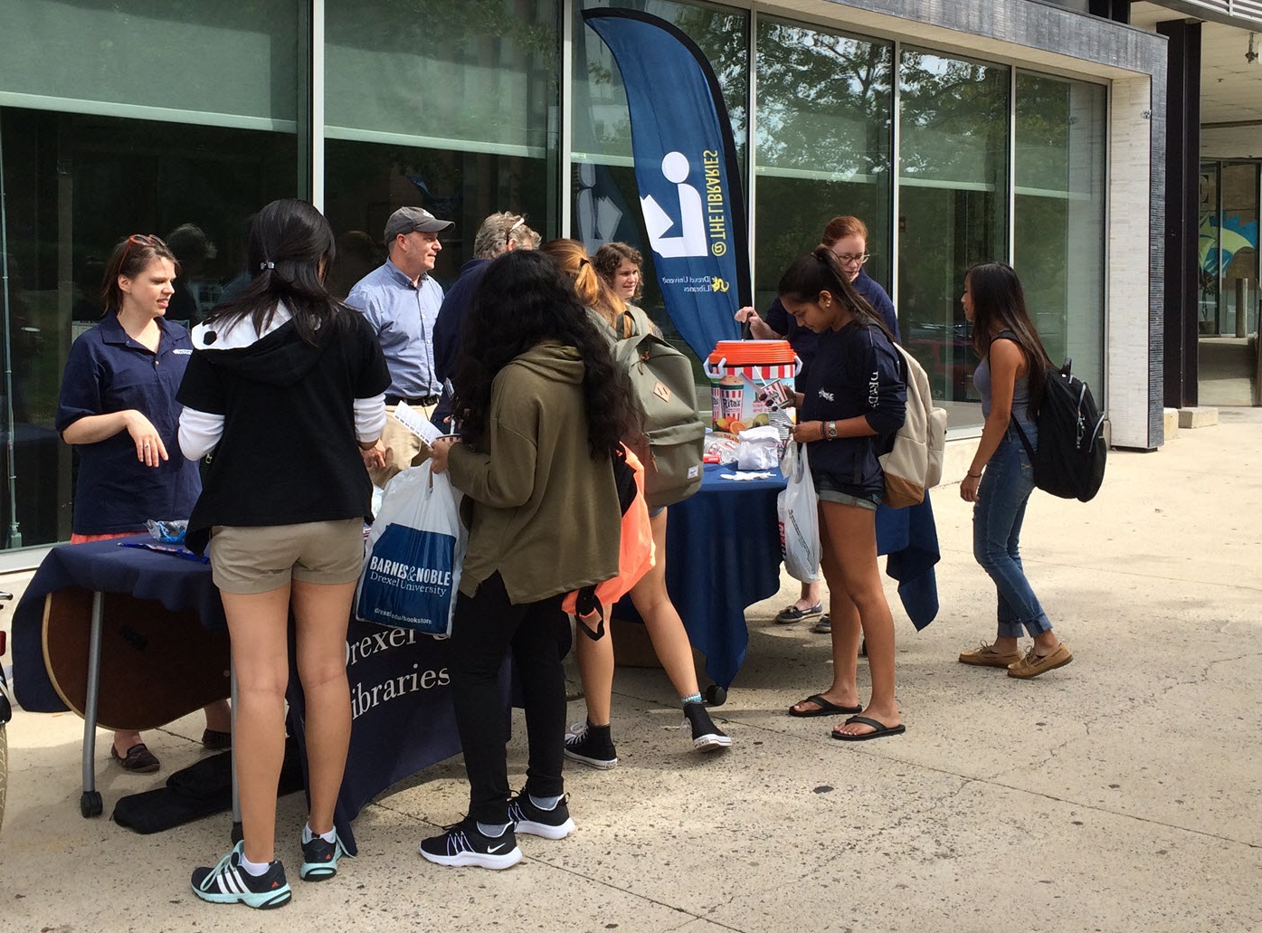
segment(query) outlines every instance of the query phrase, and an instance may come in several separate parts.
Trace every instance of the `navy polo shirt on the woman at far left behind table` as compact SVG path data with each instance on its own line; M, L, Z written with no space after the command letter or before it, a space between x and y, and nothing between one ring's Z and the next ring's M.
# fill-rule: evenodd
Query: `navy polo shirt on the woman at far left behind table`
M126 431L91 444L76 444L80 456L74 489L76 534L144 532L146 519L187 519L202 491L196 461L179 451L175 393L193 354L188 331L158 319L158 352L126 335L119 318L106 318L71 346L57 400L57 431L80 418L136 409L167 448L169 460L149 467L136 460Z

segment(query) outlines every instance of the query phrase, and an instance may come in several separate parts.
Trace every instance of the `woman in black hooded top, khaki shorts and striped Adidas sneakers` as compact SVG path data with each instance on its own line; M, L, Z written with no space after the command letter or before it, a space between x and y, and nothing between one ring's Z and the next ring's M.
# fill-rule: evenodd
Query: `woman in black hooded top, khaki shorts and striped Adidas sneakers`
M250 283L193 328L179 389L184 456L215 455L188 547L209 550L239 687L245 838L192 877L193 893L215 904L265 909L292 896L275 852L290 615L310 807L299 876L331 879L345 853L333 809L351 741L346 629L372 492L362 452L385 425L390 374L367 319L324 287L333 255L333 231L312 205L259 211Z

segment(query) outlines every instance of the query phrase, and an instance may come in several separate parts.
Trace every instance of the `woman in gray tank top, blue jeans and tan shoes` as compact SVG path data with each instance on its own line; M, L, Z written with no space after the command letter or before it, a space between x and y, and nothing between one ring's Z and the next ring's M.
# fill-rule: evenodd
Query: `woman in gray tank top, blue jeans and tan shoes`
M973 324L973 348L982 361L973 383L982 394L986 427L959 495L973 506L973 556L994 581L998 630L994 641L962 651L962 664L1007 668L1008 677L1030 678L1074 659L1069 645L1051 630L1051 621L1026 579L1018 549L1026 502L1034 491L1034 468L1013 423L1031 444L1039 432L1037 410L1047 351L1026 311L1021 280L1005 263L974 265L964 276L960 298ZM1034 645L1025 654L1018 639L1029 633Z

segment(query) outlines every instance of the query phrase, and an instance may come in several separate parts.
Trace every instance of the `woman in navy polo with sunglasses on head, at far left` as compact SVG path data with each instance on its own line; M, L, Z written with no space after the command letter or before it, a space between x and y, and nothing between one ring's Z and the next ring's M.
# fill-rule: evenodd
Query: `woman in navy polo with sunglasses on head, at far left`
M71 346L57 429L80 455L71 543L122 538L148 519L187 519L202 490L179 452L175 390L192 354L188 331L164 321L179 266L156 236L120 241L106 264L105 319ZM206 707L202 744L231 744L227 701ZM149 774L158 758L140 734L114 734L110 756Z

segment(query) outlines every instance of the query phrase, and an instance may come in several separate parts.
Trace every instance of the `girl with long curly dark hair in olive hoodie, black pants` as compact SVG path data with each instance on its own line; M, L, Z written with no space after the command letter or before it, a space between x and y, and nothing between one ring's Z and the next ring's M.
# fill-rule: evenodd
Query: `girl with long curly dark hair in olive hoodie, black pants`
M515 832L574 828L562 781L562 600L618 572L621 509L611 457L636 420L630 381L548 256L487 266L456 365L459 441L432 444L435 472L472 505L452 621L452 697L469 779L468 816L420 843L439 865L507 869ZM516 662L530 744L510 797L498 672Z

